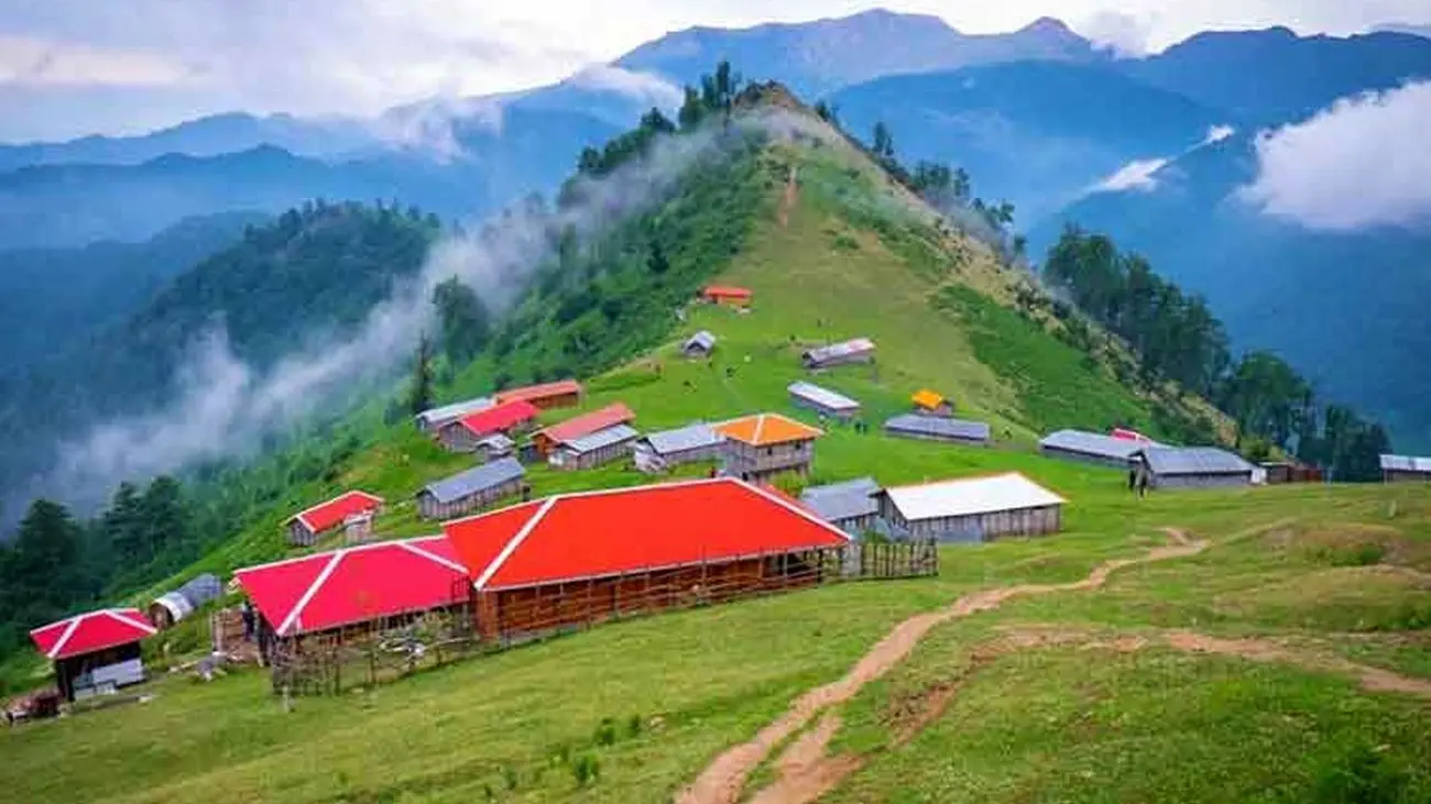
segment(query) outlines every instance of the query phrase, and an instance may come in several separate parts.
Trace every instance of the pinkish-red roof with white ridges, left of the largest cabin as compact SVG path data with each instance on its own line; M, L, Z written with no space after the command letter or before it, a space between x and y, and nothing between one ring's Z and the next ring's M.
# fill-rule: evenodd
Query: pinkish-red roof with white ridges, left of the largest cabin
M467 571L445 536L351 546L233 575L280 637L429 611L467 594Z

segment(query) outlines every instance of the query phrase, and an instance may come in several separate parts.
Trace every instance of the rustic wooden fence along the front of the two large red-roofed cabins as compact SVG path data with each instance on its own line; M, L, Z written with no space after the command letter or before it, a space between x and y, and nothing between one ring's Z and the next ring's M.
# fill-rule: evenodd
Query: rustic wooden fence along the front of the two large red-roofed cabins
M827 584L937 574L937 542L919 541L851 542L505 592L474 592L459 582L446 608L276 638L268 658L275 692L336 694L602 622Z

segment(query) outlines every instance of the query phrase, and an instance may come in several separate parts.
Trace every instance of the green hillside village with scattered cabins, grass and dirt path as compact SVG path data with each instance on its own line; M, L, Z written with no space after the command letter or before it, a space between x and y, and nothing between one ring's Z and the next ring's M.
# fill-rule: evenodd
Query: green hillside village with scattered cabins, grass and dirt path
M1226 737L1261 730L1288 790L1312 748L1427 790L1425 461L1246 459L797 113L820 133L760 147L748 239L655 348L479 358L153 594L36 628L0 783L96 791L155 745L123 800L1058 798L1188 790L1195 738L1211 801L1258 788Z

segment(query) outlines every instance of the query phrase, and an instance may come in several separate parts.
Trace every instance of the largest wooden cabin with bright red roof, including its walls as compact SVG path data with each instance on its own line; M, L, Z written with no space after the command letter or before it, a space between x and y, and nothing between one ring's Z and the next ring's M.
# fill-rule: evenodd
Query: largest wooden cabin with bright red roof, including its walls
M849 538L734 478L557 495L442 526L484 638L819 584Z

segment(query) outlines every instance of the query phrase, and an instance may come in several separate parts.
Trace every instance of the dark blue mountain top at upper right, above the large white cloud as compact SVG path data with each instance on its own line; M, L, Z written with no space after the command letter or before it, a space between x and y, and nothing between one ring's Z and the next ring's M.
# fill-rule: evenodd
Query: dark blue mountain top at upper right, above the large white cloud
M1431 76L1431 39L1304 37L1284 27L1209 31L1118 66L1148 84L1266 126L1301 120L1339 97Z

